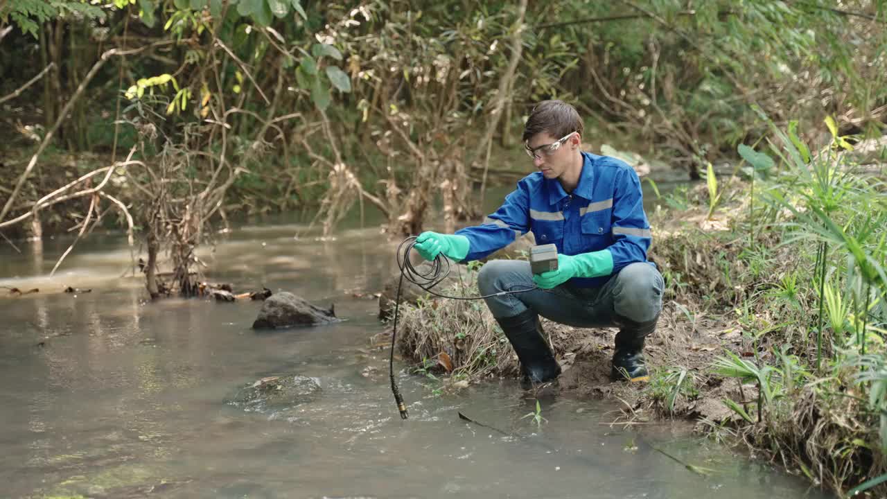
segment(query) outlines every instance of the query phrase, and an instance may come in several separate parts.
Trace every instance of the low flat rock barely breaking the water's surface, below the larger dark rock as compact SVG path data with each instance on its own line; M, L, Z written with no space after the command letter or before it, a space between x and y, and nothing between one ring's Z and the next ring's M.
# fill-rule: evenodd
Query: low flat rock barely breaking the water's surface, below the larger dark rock
M242 387L231 400L232 406L247 412L276 412L320 397L318 378L309 376L263 377Z

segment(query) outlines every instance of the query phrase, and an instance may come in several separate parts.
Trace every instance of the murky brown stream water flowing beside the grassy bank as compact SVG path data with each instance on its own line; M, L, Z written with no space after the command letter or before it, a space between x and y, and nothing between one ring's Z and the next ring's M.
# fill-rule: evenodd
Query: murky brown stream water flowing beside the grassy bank
M0 497L825 497L677 426L611 427L609 402L546 401L534 424L514 382L436 397L401 364L401 421L387 350L370 344L376 301L359 296L381 288L395 245L375 226L332 242L294 239L300 228L220 237L203 254L209 278L334 303L347 321L256 333L259 303L145 303L141 278L121 277L130 252L116 235L83 242L51 279L69 240L0 249L0 286L41 289L0 299ZM66 286L92 291L49 292ZM293 374L316 379L315 400L271 413L225 403Z

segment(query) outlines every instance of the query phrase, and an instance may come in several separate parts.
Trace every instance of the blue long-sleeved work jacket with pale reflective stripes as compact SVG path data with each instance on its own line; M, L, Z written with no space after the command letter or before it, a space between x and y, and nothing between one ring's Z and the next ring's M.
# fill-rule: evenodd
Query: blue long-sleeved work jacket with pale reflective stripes
M486 257L533 231L537 244L553 243L562 255L608 249L613 273L646 262L651 236L638 174L610 156L582 153L582 159L582 174L572 193L567 194L556 178L530 173L482 225L456 231L470 242L465 260ZM568 283L590 288L608 279L573 278Z

